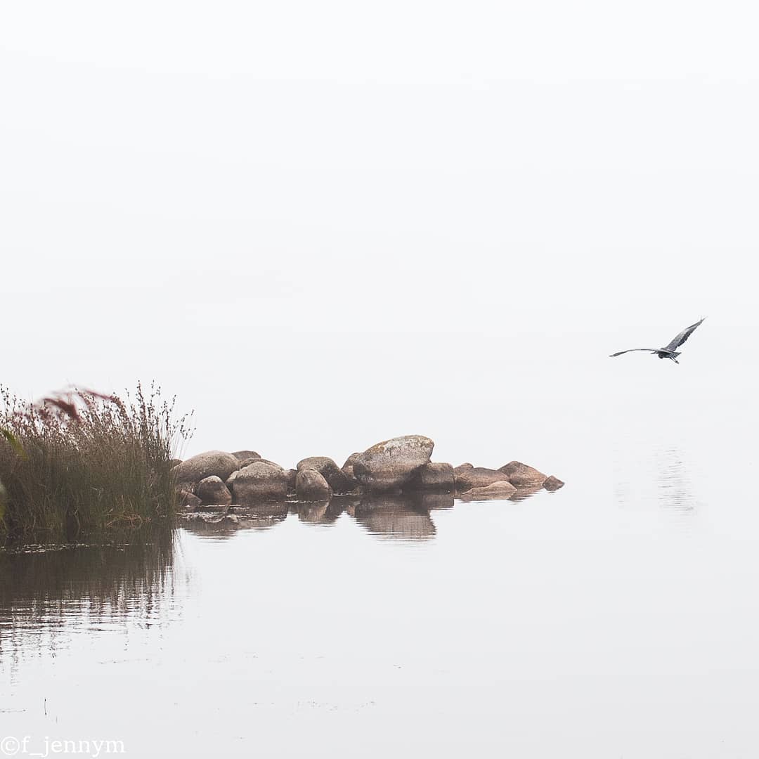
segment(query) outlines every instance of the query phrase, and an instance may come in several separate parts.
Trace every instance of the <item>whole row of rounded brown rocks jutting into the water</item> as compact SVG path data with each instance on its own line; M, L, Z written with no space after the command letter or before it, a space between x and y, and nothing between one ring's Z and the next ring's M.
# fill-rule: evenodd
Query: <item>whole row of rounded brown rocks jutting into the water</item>
M332 458L311 456L285 469L255 451L207 451L172 469L181 505L253 505L293 497L322 502L333 494L455 493L462 500L516 499L564 483L510 461L499 469L469 463L453 467L430 461L434 443L421 435L378 442L348 456L342 467Z

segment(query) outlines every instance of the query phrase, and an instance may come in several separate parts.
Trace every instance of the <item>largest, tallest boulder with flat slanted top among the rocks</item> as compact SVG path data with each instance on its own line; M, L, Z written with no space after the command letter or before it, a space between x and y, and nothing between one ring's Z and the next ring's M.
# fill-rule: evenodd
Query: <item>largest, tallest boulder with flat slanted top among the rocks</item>
M378 442L357 455L353 474L358 483L373 491L403 487L430 463L435 443L422 435L405 435Z

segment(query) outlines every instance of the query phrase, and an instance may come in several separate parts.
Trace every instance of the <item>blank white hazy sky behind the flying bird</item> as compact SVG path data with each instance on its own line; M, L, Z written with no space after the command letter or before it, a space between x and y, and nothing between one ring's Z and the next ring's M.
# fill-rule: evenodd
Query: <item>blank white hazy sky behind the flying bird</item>
M557 474L609 404L753 397L756 28L748 2L3 3L2 382L155 378L186 454L424 433ZM607 357L702 315L680 367Z

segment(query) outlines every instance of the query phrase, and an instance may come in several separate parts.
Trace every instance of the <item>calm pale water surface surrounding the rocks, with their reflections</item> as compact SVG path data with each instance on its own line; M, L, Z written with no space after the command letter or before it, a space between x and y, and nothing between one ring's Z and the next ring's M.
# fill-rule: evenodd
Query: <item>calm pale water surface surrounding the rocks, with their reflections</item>
M0 732L134 757L756 756L755 405L700 393L543 409L529 445L567 485L520 502L2 556Z

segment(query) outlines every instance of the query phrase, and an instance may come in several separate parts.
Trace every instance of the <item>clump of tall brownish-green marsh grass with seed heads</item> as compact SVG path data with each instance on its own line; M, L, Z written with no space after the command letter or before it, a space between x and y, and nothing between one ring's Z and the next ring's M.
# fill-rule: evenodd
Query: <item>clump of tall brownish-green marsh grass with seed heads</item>
M175 401L150 386L134 397L71 389L37 403L0 388L0 535L74 540L171 521L170 461L191 434Z

